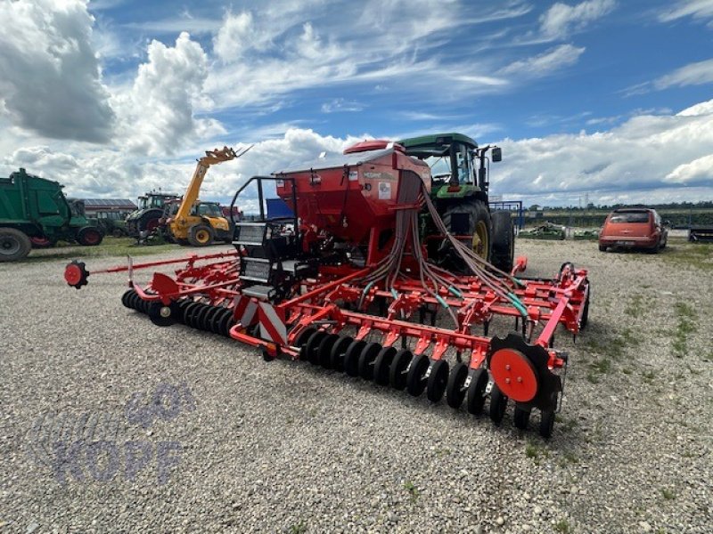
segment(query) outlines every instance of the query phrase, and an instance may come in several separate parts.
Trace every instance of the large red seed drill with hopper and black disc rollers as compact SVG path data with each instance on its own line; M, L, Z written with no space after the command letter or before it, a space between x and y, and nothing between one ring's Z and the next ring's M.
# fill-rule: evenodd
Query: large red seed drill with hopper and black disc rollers
M266 182L293 217L266 220ZM233 205L250 183L261 216L236 223L234 252L193 255L146 285L135 271L185 260L109 270L129 271L124 305L159 326L182 322L259 347L266 360L307 360L433 402L445 395L471 414L489 400L496 425L512 402L515 425L528 427L536 410L539 432L551 435L568 360L553 348L554 332L586 327L585 270L563 263L553 279L528 279L524 258L512 271L488 263L448 231L431 199L430 167L398 144L361 144L254 176ZM453 262L431 262L429 240L451 248ZM84 263L65 271L72 287L88 276Z

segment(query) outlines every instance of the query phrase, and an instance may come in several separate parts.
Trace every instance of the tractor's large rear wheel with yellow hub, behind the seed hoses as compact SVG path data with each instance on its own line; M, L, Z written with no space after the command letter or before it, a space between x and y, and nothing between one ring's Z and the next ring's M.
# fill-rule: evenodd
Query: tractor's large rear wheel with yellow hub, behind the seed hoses
M492 251L492 232L488 206L477 198L463 198L450 202L441 219L452 234L471 236L470 247L484 260L489 260ZM458 263L458 262L456 262ZM459 262L458 271L465 271L465 265Z

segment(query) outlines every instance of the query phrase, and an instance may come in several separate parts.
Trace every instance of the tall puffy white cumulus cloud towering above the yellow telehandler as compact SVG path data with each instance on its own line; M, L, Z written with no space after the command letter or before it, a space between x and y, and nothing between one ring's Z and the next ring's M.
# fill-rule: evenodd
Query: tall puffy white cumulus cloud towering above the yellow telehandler
M202 91L207 75L208 57L187 33L178 36L173 47L152 41L133 86L114 99L127 148L172 154L194 138L225 133L217 120L194 116L196 107L212 105Z

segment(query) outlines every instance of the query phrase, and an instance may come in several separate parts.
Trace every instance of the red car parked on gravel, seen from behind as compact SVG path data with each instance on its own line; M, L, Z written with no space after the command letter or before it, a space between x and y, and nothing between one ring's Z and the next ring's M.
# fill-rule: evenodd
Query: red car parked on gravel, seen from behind
M643 248L659 252L666 247L668 229L656 210L645 207L623 207L607 215L599 233L599 250L607 248Z

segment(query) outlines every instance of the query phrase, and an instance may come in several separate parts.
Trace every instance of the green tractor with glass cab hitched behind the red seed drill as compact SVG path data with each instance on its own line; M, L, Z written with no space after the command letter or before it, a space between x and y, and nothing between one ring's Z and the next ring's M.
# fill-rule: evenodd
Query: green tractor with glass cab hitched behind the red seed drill
M508 211L491 211L488 204L489 164L501 161L496 146L479 147L463 134L432 134L397 142L431 170L431 198L448 231L501 271L511 271L515 230ZM488 157L489 154L489 157ZM459 270L460 260L438 231L430 216L422 215L423 242L429 257Z

